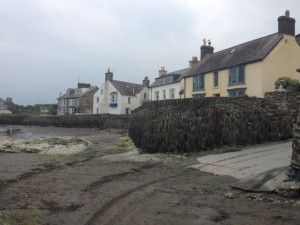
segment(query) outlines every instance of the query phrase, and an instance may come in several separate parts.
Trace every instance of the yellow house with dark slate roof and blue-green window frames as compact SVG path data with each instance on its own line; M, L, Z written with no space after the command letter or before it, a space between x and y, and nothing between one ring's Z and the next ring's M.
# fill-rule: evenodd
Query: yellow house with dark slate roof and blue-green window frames
M210 41L201 46L201 60L185 77L185 97L263 97L282 76L300 79L300 35L295 19L278 17L278 32L213 52Z

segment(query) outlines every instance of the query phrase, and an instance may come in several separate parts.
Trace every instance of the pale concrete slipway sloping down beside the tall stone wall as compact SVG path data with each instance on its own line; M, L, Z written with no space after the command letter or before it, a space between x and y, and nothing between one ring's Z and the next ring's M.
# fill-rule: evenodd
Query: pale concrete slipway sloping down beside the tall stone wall
M246 147L238 152L207 155L191 166L215 175L228 175L240 180L233 187L246 190L273 191L287 179L285 175L292 155L292 141Z

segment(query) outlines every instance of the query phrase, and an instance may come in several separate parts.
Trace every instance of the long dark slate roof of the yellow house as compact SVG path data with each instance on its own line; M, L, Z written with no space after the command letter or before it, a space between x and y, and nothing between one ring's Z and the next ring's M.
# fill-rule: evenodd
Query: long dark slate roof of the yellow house
M187 77L263 60L282 38L283 34L275 33L207 55Z

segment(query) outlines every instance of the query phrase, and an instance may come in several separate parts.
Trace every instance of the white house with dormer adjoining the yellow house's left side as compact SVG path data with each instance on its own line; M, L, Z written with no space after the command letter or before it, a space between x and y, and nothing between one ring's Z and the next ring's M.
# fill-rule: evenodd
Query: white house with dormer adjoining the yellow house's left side
M171 73L168 73L165 67L161 67L159 77L155 78L154 83L150 85L151 100L184 98L184 77L197 63L197 57L193 57L189 61L189 68Z

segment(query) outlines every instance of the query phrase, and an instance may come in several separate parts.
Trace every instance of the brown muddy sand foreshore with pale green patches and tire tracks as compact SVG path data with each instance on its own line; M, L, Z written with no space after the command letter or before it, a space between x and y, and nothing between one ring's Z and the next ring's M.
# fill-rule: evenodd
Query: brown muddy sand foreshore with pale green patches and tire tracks
M300 199L232 189L188 168L197 154L139 154L122 130L7 128L0 225L300 224Z

